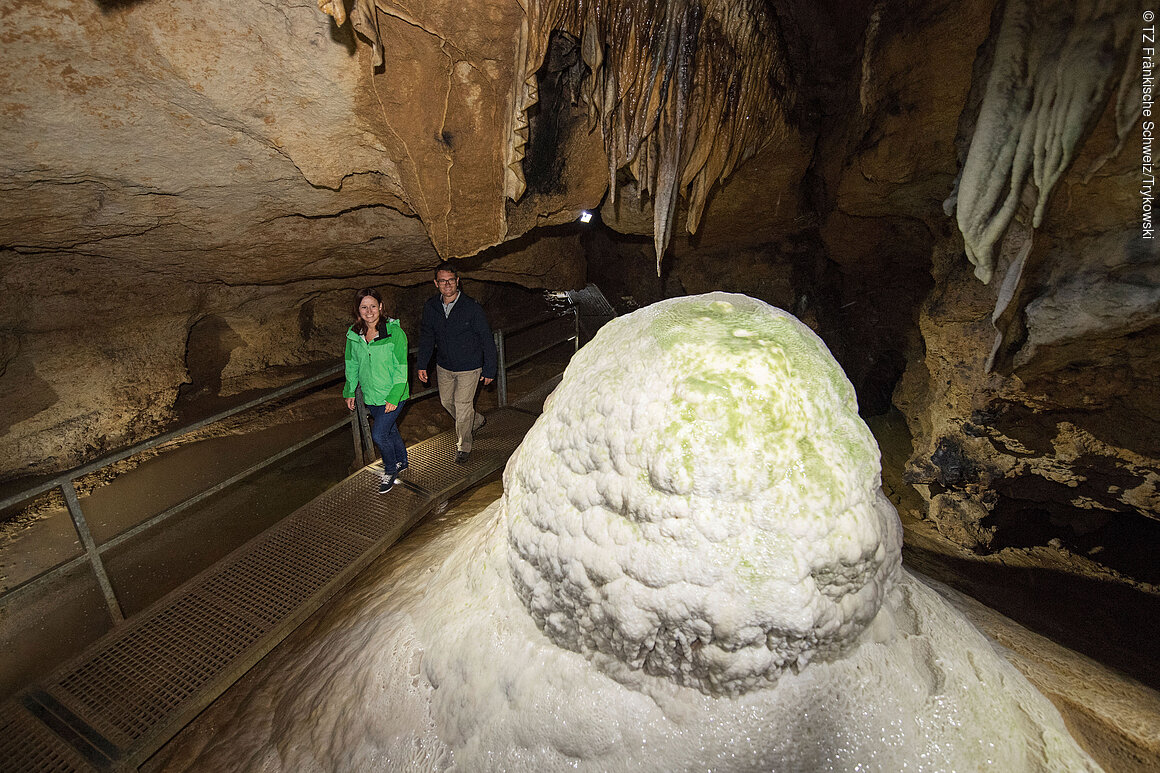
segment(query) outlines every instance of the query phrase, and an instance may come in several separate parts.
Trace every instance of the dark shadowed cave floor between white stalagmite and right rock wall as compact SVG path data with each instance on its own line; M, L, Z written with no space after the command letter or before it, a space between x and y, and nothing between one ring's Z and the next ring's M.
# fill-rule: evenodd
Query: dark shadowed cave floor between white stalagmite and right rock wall
M894 412L869 421L883 454L883 486L902 521L906 566L966 593L1056 643L1160 689L1160 592L1139 577L1049 543L988 555L922 520L921 496L901 479L911 440Z

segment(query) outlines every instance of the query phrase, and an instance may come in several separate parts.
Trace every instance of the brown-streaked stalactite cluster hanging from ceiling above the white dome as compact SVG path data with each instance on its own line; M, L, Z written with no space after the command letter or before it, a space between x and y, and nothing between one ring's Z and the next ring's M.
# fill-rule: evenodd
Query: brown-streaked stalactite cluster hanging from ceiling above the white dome
M523 0L522 89L516 95L506 193L524 190L520 161L536 71L552 30L581 39L590 75L582 89L590 127L608 152L609 202L628 168L653 198L657 267L676 204L694 232L712 186L769 138L788 102L777 20L760 0Z

